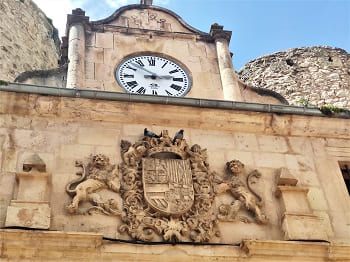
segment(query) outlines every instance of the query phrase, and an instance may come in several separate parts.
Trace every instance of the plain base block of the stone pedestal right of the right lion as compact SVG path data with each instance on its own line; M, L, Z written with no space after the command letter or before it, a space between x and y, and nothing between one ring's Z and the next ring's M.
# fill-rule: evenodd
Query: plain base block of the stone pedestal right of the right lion
M328 240L322 219L311 214L284 214L282 229L285 240Z

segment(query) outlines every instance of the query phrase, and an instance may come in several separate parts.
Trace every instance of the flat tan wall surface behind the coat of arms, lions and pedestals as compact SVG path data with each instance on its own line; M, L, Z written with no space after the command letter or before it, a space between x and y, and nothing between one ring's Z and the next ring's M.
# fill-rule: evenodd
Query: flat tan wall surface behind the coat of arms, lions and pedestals
M101 153L112 164L120 164L122 139L139 141L145 127L157 134L167 129L169 135L183 128L187 143L198 143L207 149L210 170L220 177L225 173L225 163L232 159L239 159L247 168L262 174L255 188L264 200L268 225L223 222L219 225L220 239L213 242L283 239L282 204L273 194L276 170L281 167L288 168L298 179L298 187L309 190L310 210L323 220L317 230L325 230L330 241L349 241L348 192L338 165L338 161L349 159L348 119L14 92L1 92L0 105L0 227L5 224L10 201L16 199L16 173L22 170L24 160L35 153L46 163L52 179L50 230L98 232L105 237L127 239L127 235L117 231L119 217L67 213L70 197L65 186L77 178L75 160ZM217 206L229 204L232 196L222 195L217 200ZM291 202L298 203L298 208L306 203ZM119 204L121 209L121 201ZM300 225L293 227L297 232L304 229Z

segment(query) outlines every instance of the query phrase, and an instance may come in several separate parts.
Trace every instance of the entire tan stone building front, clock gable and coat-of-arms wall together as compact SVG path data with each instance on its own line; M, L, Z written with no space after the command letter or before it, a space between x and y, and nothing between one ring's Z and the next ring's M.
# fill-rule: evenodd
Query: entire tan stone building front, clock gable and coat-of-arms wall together
M0 83L0 259L350 261L349 114L260 95L231 32L145 2L95 22L73 10L68 65ZM181 63L188 98L118 92L135 54ZM135 82L179 81L133 61ZM266 97L278 105L244 103Z

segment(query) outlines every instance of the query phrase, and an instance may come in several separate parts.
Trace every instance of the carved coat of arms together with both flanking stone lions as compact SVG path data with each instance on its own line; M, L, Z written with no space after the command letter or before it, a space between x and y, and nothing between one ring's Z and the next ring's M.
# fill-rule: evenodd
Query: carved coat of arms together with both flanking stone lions
M255 170L243 181L244 165L233 160L227 163L229 178L220 179L209 169L206 149L189 146L183 130L172 138L167 130L158 136L145 129L142 140L121 141L121 155L119 175L103 155L93 156L88 165L77 163L83 169L81 177L66 189L74 196L67 207L70 213L120 215L120 233L141 241L209 242L219 236L219 221L267 223L262 199L250 187L260 173ZM102 200L102 188L120 193L122 212L115 200ZM232 204L216 207L215 196L224 192L231 195ZM92 206L81 212L82 201ZM239 215L240 210L254 219Z

